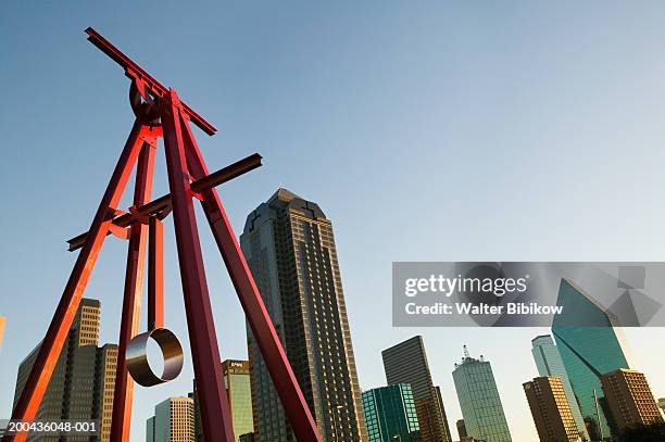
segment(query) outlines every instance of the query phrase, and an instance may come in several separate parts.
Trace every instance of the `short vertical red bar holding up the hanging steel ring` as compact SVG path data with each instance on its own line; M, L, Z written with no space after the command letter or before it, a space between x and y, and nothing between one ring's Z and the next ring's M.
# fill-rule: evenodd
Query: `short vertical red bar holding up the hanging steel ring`
M164 327L164 226L150 217L148 256L148 330Z

